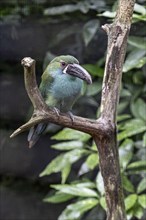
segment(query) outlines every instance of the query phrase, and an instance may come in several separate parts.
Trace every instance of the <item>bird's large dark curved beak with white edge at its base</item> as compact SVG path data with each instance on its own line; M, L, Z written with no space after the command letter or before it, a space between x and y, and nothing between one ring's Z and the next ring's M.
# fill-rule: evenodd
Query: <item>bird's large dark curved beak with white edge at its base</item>
M63 70L63 73L67 73L69 75L78 77L84 81L86 81L88 84L92 83L92 78L90 74L79 64L68 64L65 69Z

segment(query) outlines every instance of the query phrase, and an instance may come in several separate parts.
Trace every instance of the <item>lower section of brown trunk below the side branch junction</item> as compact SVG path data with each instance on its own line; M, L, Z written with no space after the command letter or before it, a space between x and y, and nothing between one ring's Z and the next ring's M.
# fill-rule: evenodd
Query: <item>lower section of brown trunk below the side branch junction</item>
M94 138L98 146L100 170L104 181L107 220L126 220L116 131L104 138Z

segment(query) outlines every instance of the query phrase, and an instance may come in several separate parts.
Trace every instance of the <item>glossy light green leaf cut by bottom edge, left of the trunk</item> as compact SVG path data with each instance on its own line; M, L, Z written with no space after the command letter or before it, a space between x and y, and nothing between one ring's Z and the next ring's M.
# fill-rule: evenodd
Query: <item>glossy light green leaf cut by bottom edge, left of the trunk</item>
M92 209L97 204L98 200L93 198L80 200L76 203L68 205L61 213L58 220L79 220L85 212Z

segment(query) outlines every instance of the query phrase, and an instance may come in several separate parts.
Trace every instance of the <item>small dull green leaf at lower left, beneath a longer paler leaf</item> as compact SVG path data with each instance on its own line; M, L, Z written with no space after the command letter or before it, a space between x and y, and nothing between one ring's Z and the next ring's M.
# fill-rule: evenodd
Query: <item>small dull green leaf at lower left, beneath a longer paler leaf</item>
M44 202L50 202L50 203L61 203L61 202L66 202L70 199L74 198L73 195L68 195L66 193L60 193L57 192L53 196L46 196L43 201Z

